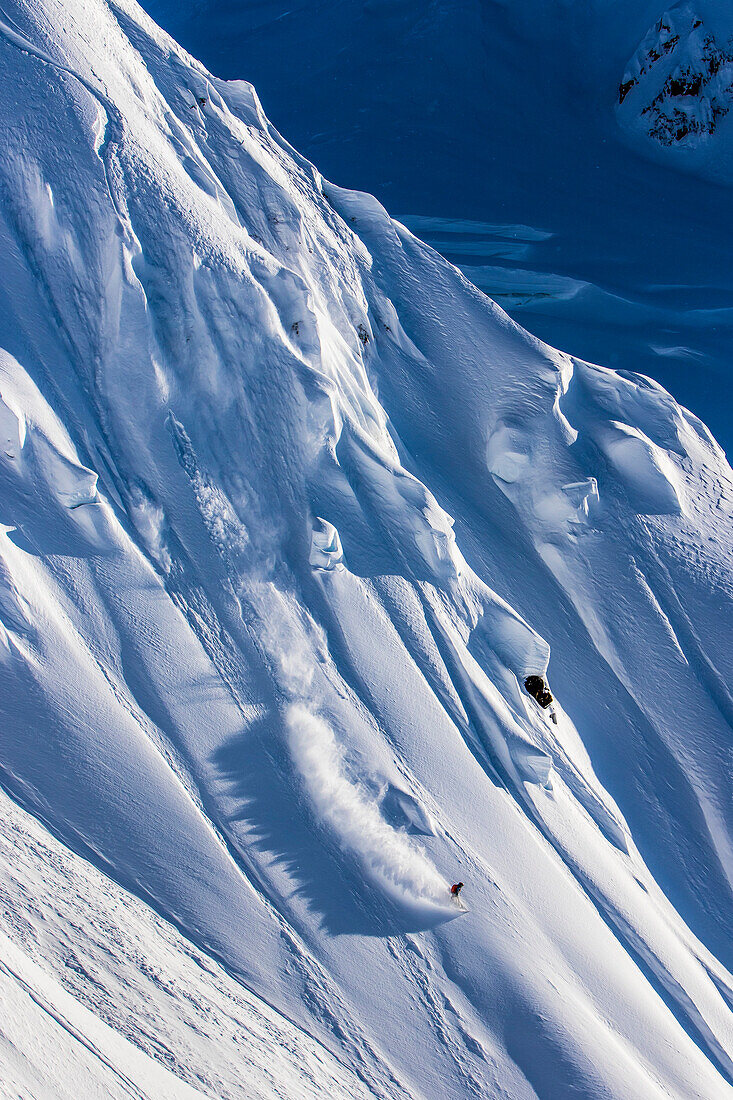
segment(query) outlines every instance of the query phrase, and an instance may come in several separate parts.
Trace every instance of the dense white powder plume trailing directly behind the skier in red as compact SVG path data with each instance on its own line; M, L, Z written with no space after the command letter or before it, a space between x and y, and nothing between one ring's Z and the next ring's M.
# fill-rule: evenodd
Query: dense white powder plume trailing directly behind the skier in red
M333 730L302 703L286 715L293 760L318 817L363 872L397 900L447 905L448 883L404 834L392 828L346 774Z

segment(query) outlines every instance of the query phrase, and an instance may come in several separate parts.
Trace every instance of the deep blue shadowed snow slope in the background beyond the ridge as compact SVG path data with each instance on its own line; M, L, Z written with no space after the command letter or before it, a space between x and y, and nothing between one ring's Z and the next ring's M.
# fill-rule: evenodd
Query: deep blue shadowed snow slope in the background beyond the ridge
M720 186L733 112L709 140L666 146L633 132L656 85L616 111L668 0L143 7L212 73L251 80L325 176L419 227L530 332L650 375L733 453L733 190ZM726 47L730 0L696 11Z

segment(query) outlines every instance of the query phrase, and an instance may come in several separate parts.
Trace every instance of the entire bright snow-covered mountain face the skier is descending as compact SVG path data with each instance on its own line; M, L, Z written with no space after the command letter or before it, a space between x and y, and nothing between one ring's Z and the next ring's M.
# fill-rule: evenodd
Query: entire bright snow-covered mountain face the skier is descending
M7 1088L733 1094L708 430L132 0L0 36Z

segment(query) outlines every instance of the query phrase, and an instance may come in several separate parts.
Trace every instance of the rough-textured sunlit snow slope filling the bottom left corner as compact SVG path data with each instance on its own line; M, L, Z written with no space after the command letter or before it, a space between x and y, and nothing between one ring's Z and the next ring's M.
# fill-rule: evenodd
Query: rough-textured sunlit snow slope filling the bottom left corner
M0 802L3 1096L369 1096L322 1045Z

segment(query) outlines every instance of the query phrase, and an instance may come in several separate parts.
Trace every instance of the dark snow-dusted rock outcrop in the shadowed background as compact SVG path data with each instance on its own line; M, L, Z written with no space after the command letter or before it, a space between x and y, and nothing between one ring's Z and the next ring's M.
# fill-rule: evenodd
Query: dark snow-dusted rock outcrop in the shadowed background
M661 145L708 141L733 106L733 42L720 43L690 3L647 31L619 85L619 121Z

